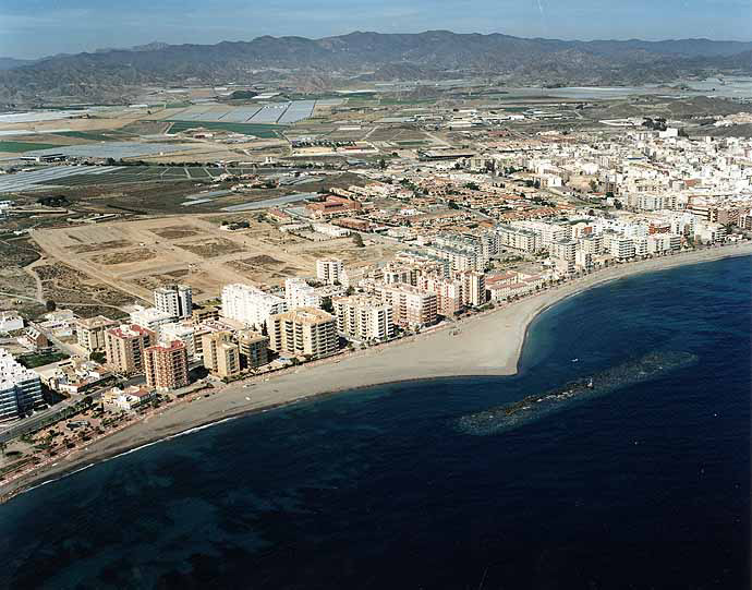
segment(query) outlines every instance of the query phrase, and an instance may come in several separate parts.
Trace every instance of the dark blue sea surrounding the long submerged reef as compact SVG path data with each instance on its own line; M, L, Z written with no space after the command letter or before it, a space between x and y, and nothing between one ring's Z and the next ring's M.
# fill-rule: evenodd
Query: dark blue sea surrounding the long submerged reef
M0 506L0 588L749 589L751 262L563 301L513 377L342 394L36 489ZM458 429L654 350L698 360Z

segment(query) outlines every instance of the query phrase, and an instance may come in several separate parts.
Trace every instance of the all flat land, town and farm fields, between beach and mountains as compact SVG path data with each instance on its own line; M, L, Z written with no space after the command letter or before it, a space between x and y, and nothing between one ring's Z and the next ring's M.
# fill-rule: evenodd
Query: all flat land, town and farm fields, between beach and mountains
M0 142L0 483L229 386L752 237L741 103L278 94L3 121L25 140Z

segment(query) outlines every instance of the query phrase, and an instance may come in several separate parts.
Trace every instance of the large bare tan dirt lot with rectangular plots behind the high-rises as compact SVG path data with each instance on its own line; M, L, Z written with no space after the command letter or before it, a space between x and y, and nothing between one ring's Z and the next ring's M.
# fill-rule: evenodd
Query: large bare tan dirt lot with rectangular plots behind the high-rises
M351 238L311 242L283 233L260 214L242 231L225 231L219 216L170 216L71 228L36 229L31 236L47 256L111 289L151 300L166 282L186 282L197 301L217 297L223 285L281 285L293 276L313 276L316 260L339 256L351 266L386 260L397 248L375 243L357 248ZM367 241L367 240L366 240ZM134 244L137 244L134 245ZM147 254L148 253L148 254Z

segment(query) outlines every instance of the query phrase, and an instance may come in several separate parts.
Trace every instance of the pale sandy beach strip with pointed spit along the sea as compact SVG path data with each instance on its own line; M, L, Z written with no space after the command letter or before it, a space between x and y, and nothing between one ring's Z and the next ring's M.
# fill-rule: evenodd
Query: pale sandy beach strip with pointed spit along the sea
M255 382L253 387L243 387L244 382L225 385L209 397L171 406L0 486L0 502L114 456L251 412L269 411L301 400L388 383L512 375L518 372L531 323L556 303L628 276L749 255L752 255L752 243L745 242L620 264L448 327L426 330L419 336L347 357L308 363L282 374L246 380Z

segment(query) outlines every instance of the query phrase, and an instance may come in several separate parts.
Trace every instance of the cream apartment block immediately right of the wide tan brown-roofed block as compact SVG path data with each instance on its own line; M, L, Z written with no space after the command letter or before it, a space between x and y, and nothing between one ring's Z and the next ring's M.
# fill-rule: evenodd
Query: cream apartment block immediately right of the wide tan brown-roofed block
M337 297L331 300L337 329L357 340L385 340L395 330L391 305L367 296Z

